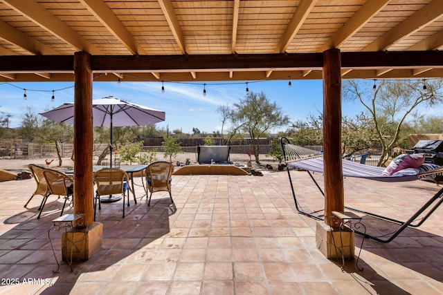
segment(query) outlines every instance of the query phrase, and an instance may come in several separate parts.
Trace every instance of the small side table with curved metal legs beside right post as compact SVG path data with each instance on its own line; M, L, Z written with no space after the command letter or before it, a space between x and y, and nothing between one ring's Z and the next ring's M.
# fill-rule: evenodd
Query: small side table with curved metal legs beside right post
M338 225L338 232L340 233L340 247L336 246L334 234L332 234L332 242L334 242L335 250L337 251L337 249L338 249L341 253L341 259L343 261L343 266L341 267L342 271L345 269L345 255L343 254L343 248L345 248L345 247L351 248L352 247L351 240L350 240L350 245L343 245L342 232L343 232L343 229L345 229L345 227L347 227L350 231L354 232L354 229L352 229L353 223L354 223L354 227L356 229L359 229L360 227L363 227L363 229L364 229L363 238L361 240L361 245L360 245L360 251L359 251L359 254L357 255L357 259L355 262L356 268L359 269L359 271L363 271L363 267L361 267L361 268L359 267L359 258L360 258L360 254L361 254L361 248L363 247L363 242L364 242L365 236L366 236L366 227L361 222L361 219L362 218L360 216L356 216L354 213L338 212L338 211L332 211L332 216L329 218L329 226L331 227L331 231L332 231L332 223L334 223L334 225ZM338 254L337 254L337 256L338 256ZM352 257L350 257L350 258L352 259Z

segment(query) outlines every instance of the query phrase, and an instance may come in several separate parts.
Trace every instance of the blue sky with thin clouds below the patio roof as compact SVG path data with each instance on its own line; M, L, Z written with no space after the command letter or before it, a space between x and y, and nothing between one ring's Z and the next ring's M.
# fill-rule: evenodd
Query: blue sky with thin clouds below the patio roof
M282 80L248 82L248 88L255 93L264 92L293 122L306 120L310 114L317 115L323 110L321 80L292 80L291 84L289 88L288 81ZM28 106L41 113L65 102L73 102L73 85L73 82L0 83L0 111L12 115L10 126L17 127ZM111 95L165 111L165 122L156 126L168 126L171 131L181 129L184 133L192 133L192 128L196 127L210 133L221 130L217 107L231 105L246 95L246 82L208 82L206 96L203 95L203 83L165 82L164 86L165 92L162 93L161 82L93 82L93 99ZM63 88L66 89L60 90ZM55 102L51 102L53 90ZM356 102L343 102L343 115L351 116L361 110Z

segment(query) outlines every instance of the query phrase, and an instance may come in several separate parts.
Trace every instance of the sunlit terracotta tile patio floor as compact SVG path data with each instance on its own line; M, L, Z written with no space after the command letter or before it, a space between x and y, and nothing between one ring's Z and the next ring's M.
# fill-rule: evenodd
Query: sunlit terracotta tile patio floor
M307 173L291 173L303 206L321 209ZM323 185L322 175L314 177ZM40 196L23 207L34 189L32 179L0 182L0 294L443 294L443 206L388 244L365 240L363 272L352 262L341 272L341 260L316 249L316 220L296 213L286 171L177 175L177 211L167 193L155 193L151 207L146 198L131 200L124 219L121 201L102 204L102 249L75 262L73 272L63 263L53 274L48 229L62 203L50 197L37 220ZM405 220L438 189L421 180L346 178L345 202ZM142 196L143 188L136 192ZM364 222L370 231L392 229ZM60 232L51 237L60 260ZM19 284L10 285L15 279ZM24 284L28 279L34 281Z

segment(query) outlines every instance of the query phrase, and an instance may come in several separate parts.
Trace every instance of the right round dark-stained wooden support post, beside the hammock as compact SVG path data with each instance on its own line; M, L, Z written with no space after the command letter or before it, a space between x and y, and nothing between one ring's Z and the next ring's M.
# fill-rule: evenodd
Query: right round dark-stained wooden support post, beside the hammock
M325 223L332 211L344 210L341 164L341 56L332 48L323 52L323 151L325 166Z

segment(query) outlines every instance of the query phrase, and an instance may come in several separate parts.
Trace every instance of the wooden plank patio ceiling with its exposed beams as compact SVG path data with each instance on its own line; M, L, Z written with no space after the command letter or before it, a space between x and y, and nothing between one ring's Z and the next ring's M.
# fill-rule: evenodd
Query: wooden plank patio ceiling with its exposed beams
M58 59L22 64L46 55L71 62L80 50L108 64L94 68L109 74L97 81L321 79L316 62L298 61L321 61L334 47L343 57L414 53L392 65L348 62L343 77L443 77L442 61L408 58L443 48L443 0L0 0L1 82L73 81ZM287 67L262 62L293 54L300 55ZM244 65L229 64L234 57L245 57ZM143 66L125 66L136 63Z

